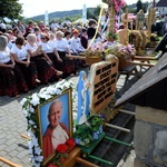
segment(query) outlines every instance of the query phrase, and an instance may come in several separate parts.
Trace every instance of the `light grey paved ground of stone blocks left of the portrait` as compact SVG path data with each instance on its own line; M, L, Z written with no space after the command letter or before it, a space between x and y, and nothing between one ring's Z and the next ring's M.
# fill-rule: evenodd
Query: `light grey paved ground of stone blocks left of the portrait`
M78 76L72 77L71 80L76 81ZM117 88L122 88L125 84L125 77L120 76ZM31 91L38 92L40 88ZM27 135L27 120L21 112L20 100L28 96L27 94L21 95L20 98L9 98L7 96L0 97L0 156L17 163L23 167L30 167L29 155L27 150L27 140L20 137L20 134ZM132 157L129 158L129 164L121 165L122 167L132 167ZM7 165L0 163L0 167L7 167Z

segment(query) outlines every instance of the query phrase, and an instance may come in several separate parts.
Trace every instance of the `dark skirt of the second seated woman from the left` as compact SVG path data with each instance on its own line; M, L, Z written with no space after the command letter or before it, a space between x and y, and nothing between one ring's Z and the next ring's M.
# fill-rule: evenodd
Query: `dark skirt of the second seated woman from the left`
M17 65L21 69L28 87L36 88L37 87L36 79L38 79L36 62L31 61L29 67L26 67L26 65L23 63L17 63Z

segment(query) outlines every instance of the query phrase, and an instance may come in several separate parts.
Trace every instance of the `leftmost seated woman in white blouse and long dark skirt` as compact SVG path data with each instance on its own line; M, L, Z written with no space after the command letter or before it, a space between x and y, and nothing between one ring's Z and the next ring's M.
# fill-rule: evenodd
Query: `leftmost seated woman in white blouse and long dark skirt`
M20 92L28 91L28 86L7 43L7 37L0 36L0 96L20 97Z

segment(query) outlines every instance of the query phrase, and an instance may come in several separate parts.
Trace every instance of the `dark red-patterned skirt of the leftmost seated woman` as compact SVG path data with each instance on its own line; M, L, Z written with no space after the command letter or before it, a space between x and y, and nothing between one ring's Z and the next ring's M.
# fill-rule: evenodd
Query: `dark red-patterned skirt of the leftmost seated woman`
M7 65L11 65L11 61ZM20 92L27 92L28 86L20 68L0 67L0 96L13 97Z

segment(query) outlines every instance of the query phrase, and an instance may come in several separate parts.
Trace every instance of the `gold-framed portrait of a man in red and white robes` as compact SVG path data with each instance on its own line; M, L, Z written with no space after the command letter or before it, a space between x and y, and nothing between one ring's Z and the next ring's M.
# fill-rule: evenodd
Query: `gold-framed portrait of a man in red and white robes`
M56 148L72 138L71 89L45 100L37 107L39 122L39 144L42 150L42 166L56 156Z

